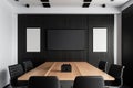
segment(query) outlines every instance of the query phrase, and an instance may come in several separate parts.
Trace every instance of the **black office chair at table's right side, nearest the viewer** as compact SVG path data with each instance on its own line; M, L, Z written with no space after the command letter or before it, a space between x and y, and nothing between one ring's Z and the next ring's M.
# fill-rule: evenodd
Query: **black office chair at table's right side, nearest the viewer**
M105 86L121 87L123 85L123 70L124 66L112 64L109 69L109 75L113 76L115 80L106 80Z

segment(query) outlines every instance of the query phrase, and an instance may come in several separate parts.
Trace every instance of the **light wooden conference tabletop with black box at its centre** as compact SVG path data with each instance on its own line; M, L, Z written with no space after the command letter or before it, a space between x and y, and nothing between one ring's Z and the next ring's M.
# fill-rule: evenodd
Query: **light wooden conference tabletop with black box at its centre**
M61 72L62 64L71 64L72 72ZM104 80L114 80L114 77L86 62L45 62L20 76L18 80L29 80L30 76L57 76L59 80L74 80L76 76L102 76Z

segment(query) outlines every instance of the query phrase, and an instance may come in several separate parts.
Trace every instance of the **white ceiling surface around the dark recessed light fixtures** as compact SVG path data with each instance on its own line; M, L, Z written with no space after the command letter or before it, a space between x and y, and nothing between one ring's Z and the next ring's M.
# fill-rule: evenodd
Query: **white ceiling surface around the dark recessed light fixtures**
M19 8L24 7L24 4L30 4L30 8L43 8L40 0L8 0L12 6ZM90 7L101 7L106 4L110 8L119 8L130 0L92 0ZM83 0L49 0L51 8L82 8Z

